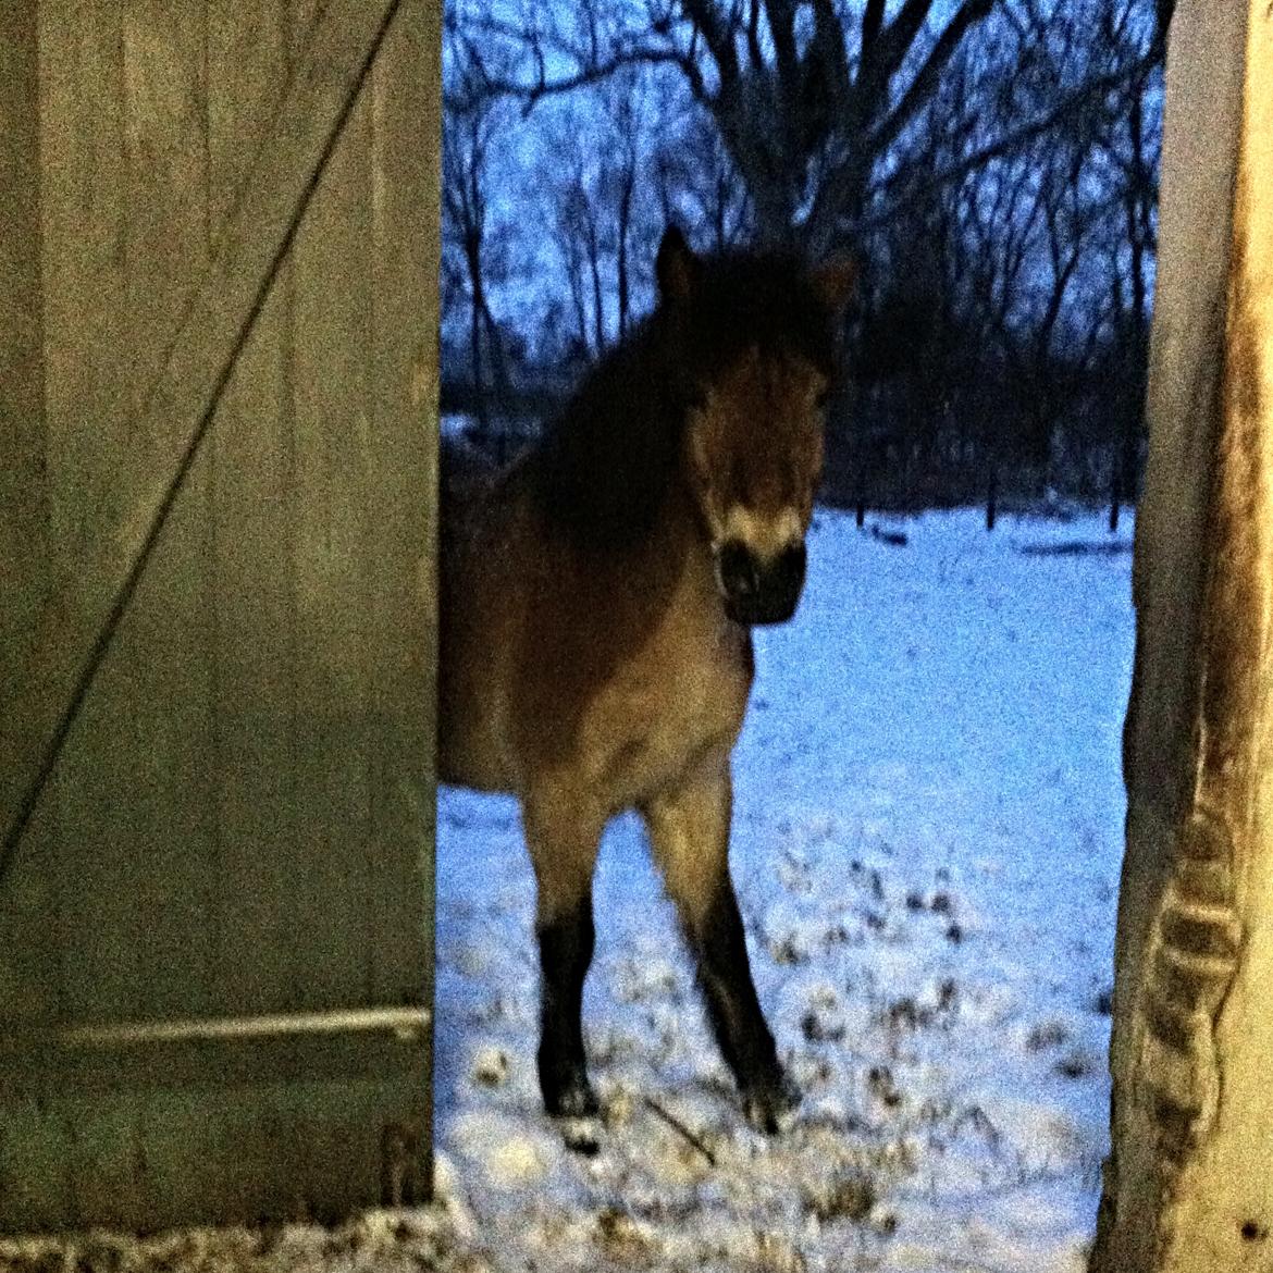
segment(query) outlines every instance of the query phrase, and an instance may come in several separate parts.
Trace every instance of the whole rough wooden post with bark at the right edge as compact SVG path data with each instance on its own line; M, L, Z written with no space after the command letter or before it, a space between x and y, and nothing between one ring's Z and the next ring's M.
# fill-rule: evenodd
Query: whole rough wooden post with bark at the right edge
M1167 61L1094 1273L1273 1262L1273 9Z

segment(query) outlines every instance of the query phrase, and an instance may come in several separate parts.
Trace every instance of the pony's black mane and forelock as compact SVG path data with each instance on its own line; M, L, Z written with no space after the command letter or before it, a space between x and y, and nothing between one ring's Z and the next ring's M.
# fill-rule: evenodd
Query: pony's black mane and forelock
M831 309L793 256L704 260L689 297L661 302L592 368L532 458L550 524L597 549L645 538L677 468L686 411L751 346L833 369Z

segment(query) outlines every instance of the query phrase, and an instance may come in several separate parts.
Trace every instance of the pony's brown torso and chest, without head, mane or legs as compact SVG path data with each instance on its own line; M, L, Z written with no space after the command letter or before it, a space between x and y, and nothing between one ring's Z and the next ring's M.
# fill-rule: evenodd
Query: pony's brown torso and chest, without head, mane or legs
M722 611L681 493L648 540L589 551L546 524L533 463L453 512L442 645L480 657L440 679L442 777L523 801L545 784L573 789L608 819L728 756L751 635Z

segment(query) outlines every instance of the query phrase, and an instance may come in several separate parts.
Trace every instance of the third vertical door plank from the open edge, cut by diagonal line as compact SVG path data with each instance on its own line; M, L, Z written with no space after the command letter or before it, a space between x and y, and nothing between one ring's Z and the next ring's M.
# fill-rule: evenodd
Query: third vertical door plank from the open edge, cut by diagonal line
M224 222L266 136L289 65L284 0L244 22L209 8L209 155ZM214 234L219 233L219 228ZM214 456L218 844L223 1012L286 1003L293 919L279 881L303 871L295 817L295 463L292 266L284 262L218 409ZM243 959L244 951L252 959Z

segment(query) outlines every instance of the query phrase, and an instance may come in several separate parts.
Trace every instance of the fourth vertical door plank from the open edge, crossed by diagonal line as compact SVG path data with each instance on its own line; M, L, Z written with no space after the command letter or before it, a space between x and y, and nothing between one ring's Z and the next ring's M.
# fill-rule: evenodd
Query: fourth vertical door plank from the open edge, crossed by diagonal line
M132 419L209 262L205 34L204 0L125 6ZM179 421L148 428L165 447L179 444ZM109 704L108 741L127 773L112 801L131 807L134 834L113 848L113 891L127 908L121 936L137 952L144 1017L214 1007L209 458L205 452L191 466L92 695L98 709ZM134 742L140 738L144 746ZM92 985L92 973L87 980Z

